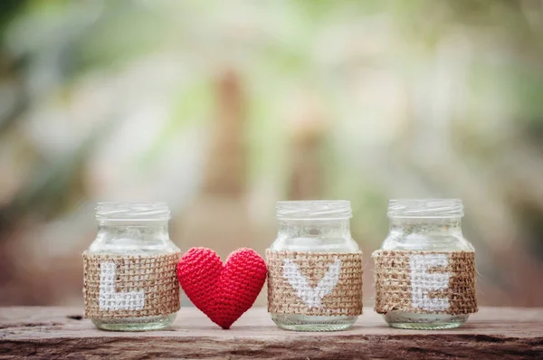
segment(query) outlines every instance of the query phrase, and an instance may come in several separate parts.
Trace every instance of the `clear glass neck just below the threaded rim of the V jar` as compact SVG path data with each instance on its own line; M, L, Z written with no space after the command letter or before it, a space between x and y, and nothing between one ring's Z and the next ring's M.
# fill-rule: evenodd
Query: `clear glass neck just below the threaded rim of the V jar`
M278 237L322 240L350 238L349 219L280 220Z

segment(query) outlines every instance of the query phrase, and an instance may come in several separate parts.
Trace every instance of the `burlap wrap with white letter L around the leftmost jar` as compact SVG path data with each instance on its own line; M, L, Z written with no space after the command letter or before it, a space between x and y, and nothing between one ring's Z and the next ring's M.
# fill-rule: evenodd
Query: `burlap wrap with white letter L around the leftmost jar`
M83 252L85 317L152 317L180 308L177 251L159 255Z

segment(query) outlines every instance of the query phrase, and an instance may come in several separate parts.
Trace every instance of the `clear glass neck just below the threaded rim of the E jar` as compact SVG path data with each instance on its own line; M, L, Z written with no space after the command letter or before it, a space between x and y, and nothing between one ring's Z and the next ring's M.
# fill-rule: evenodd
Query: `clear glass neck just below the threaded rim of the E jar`
M461 217L390 217L389 219L390 232L424 233L433 235L462 234Z

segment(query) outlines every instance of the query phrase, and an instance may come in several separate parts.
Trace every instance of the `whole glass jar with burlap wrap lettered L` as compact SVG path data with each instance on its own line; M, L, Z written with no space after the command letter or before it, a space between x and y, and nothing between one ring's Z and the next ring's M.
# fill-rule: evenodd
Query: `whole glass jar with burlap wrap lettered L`
M83 252L85 317L104 330L167 327L180 307L164 203L99 203L98 235Z

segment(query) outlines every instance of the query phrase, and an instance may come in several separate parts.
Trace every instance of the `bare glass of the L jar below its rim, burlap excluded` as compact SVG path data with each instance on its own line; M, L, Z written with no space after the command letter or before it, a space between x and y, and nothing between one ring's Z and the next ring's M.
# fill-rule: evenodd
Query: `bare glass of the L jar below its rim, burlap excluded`
M167 220L99 221L96 240L89 254L160 255L178 252L169 239ZM91 318L94 326L113 331L144 331L169 326L176 313L152 317Z

